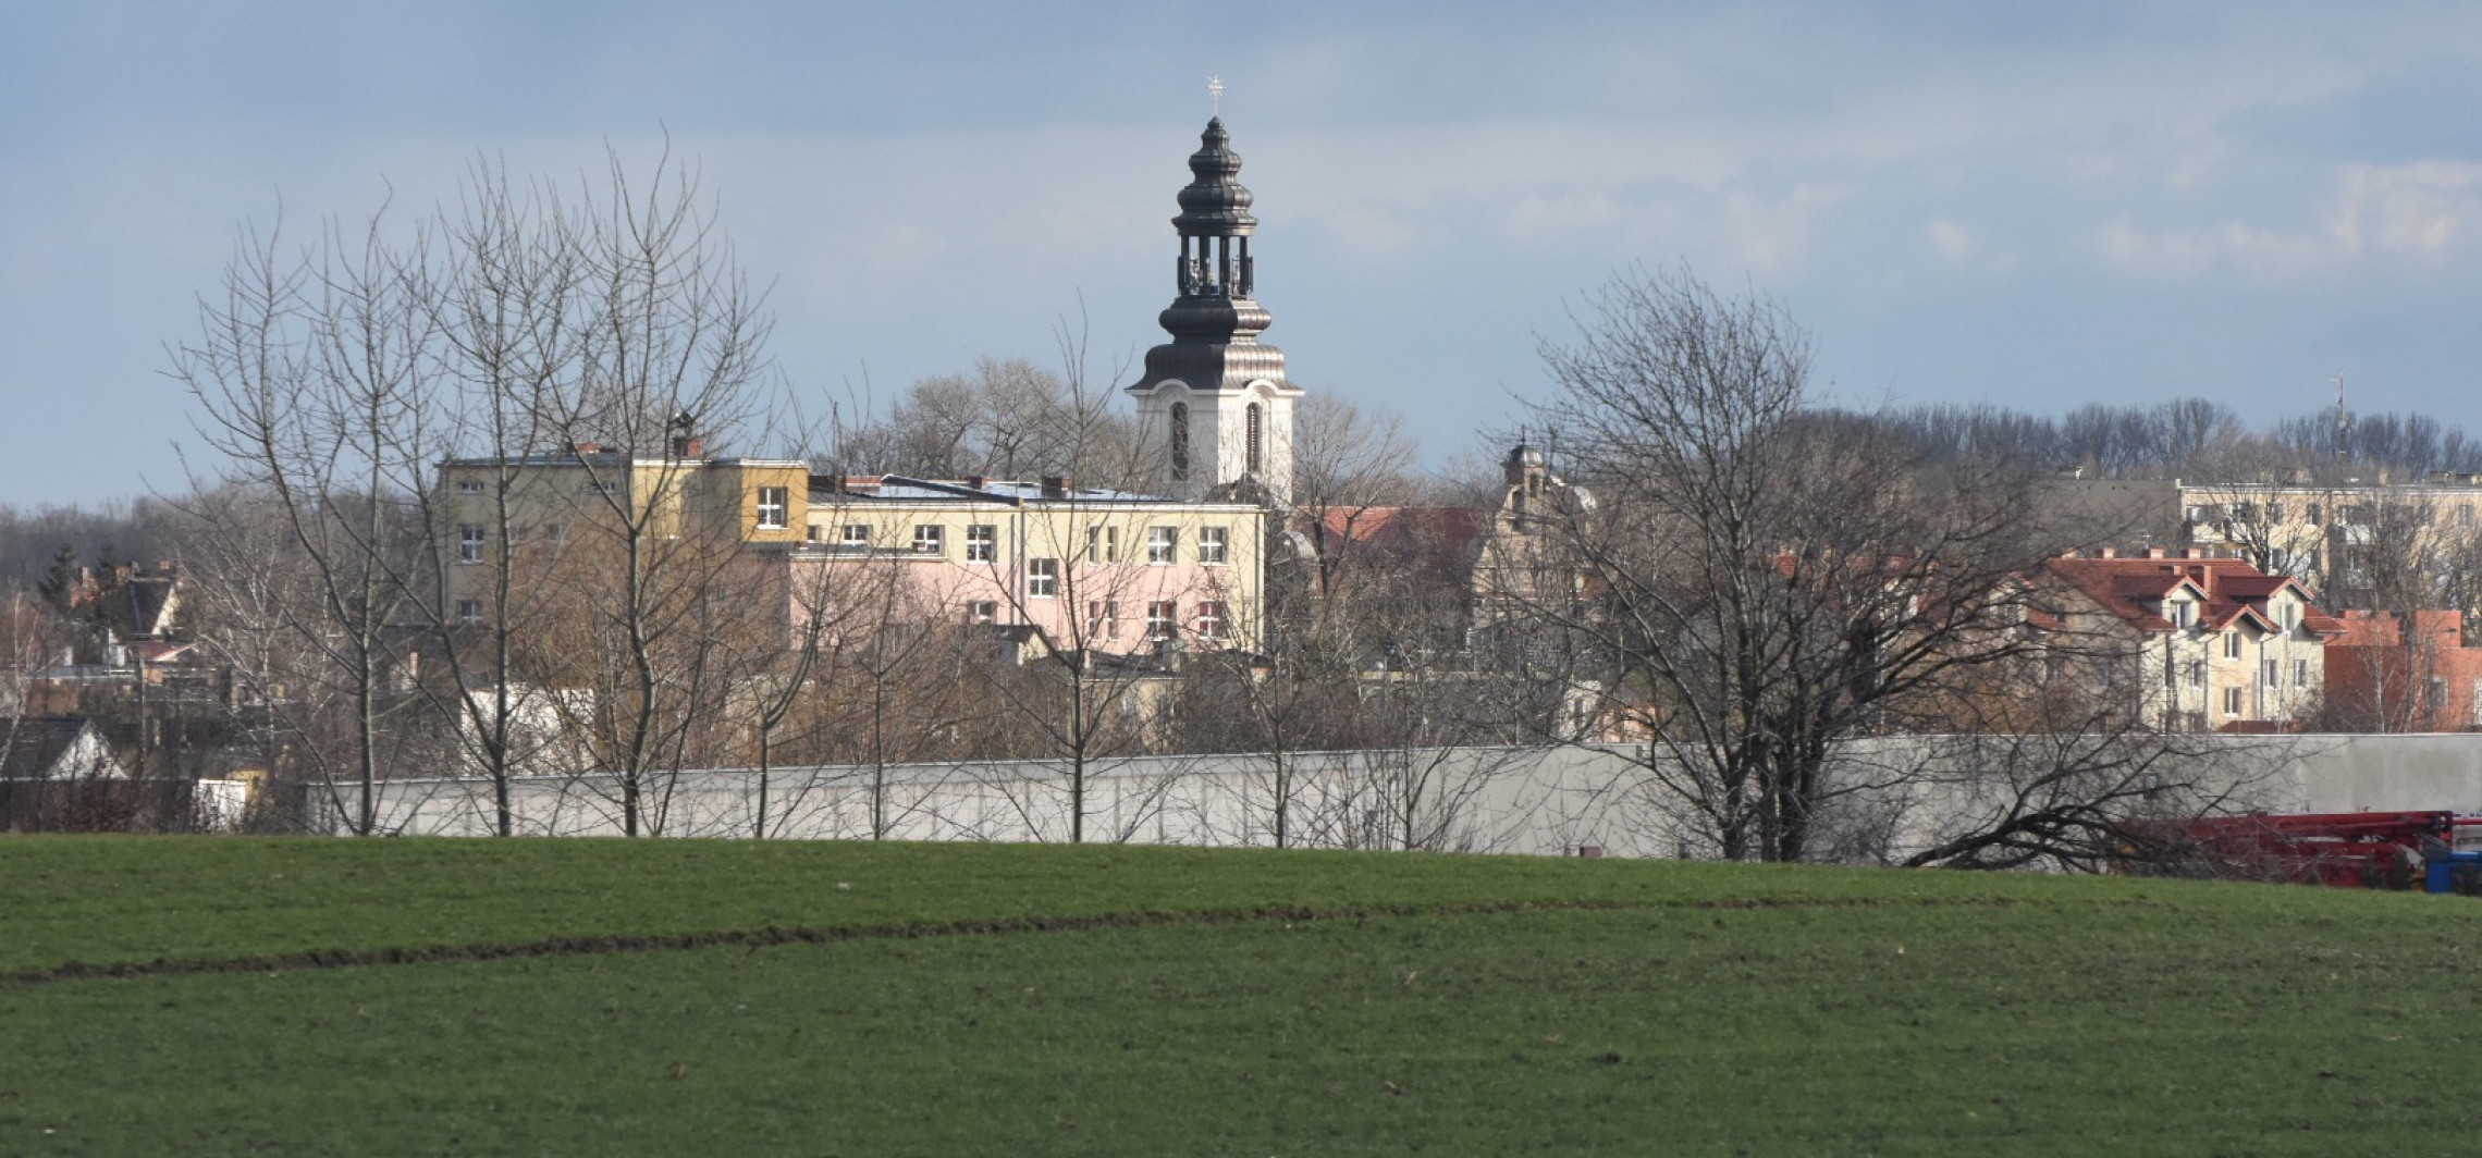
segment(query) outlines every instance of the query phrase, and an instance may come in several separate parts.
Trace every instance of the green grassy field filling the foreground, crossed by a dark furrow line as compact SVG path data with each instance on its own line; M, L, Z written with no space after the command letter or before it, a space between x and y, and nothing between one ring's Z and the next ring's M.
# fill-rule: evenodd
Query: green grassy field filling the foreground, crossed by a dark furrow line
M0 838L0 1156L2475 1153L2477 962L2278 885Z

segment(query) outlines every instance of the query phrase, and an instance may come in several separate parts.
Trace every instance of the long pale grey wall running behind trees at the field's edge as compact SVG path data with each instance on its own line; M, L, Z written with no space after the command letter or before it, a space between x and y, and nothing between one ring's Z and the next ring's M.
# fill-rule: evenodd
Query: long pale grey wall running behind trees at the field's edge
M1837 798L1844 846L1829 855L1891 858L1976 823L1996 796L1978 759L1938 741L1852 744ZM1698 855L1680 798L1646 776L1631 749L1425 749L1142 756L1092 764L1087 841L1437 848L1564 855ZM1973 764L1958 771L1963 764ZM1891 774L1891 769L1899 769ZM1914 771L1904 771L1914 769ZM1919 769L1946 769L1919 774ZM2251 811L2447 808L2482 813L2482 736L2187 736L2159 776L2204 784ZM700 769L648 784L643 828L660 836L792 841L1067 841L1070 784L1057 761ZM395 833L486 836L489 781L400 779L380 796ZM611 776L529 776L511 786L526 836L618 836ZM1283 808L1278 808L1283 801Z

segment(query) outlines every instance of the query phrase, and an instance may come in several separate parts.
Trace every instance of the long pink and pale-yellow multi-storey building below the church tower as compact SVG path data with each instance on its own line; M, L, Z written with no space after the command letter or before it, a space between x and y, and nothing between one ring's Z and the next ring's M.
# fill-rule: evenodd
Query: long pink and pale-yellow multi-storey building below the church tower
M1256 650L1266 511L1057 476L822 476L784 558L794 622L859 593L911 620L1035 627L1055 650Z

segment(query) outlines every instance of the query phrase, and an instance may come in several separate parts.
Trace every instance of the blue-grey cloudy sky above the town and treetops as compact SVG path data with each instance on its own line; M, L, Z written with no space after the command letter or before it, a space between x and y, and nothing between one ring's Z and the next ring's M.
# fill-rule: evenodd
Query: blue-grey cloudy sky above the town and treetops
M1549 7L1549 10L1541 10ZM213 461L169 350L243 228L477 159L697 166L812 407L1127 384L1209 117L1293 382L1489 454L1628 268L1780 300L1857 407L2482 427L2482 5L0 0L0 503Z

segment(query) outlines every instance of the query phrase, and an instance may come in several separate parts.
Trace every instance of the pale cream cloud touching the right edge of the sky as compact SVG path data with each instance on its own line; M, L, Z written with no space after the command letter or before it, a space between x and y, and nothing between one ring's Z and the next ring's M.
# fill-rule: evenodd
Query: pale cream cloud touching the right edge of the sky
M2482 221L2482 164L2355 164L2336 179L2318 228L2221 221L2142 231L2120 216L2095 241L2105 263L2147 278L2214 270L2296 278L2370 260L2437 263L2472 241L2475 221Z

